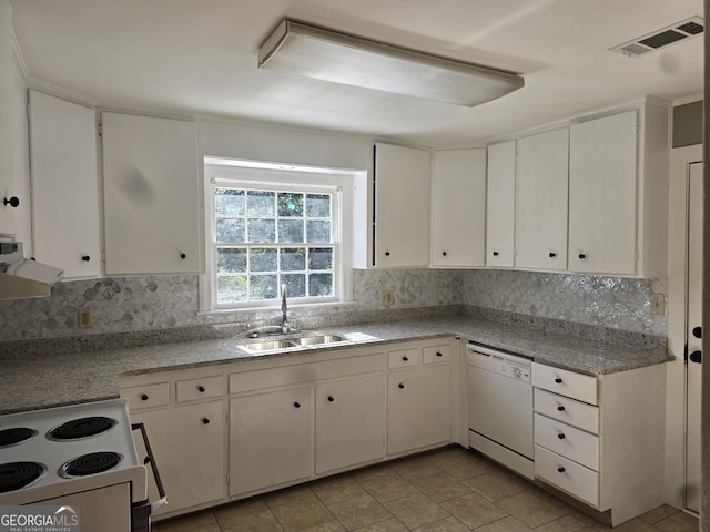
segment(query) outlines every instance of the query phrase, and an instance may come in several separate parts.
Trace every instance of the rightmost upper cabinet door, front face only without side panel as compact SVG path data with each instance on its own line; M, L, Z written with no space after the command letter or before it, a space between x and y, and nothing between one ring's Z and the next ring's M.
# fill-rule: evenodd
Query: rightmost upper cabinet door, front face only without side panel
M636 273L637 136L636 111L570 127L570 270Z

